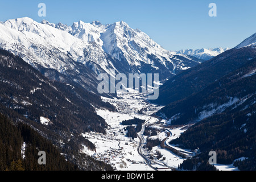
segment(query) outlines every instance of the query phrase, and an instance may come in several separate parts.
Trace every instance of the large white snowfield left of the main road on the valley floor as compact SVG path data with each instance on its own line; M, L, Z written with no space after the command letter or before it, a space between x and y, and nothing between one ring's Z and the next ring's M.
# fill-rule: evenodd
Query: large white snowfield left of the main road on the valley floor
M143 164L143 158L137 152L139 139L131 140L131 138L126 137L125 131L122 131L122 133L120 131L123 127L126 127L121 125L124 120L133 119L134 117L148 119L149 117L132 113L114 113L100 109L96 111L98 115L106 120L109 130L106 135L92 132L82 134L96 145L96 152L88 151L86 148L82 152L113 164L117 170L128 170L134 168L134 166L138 167L139 170L150 169Z

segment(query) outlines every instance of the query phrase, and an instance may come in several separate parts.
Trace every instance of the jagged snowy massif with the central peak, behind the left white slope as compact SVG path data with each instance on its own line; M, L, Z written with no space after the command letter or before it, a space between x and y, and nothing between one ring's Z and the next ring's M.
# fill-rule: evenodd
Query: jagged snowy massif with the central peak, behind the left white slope
M139 29L134 30L122 21L106 25L98 21L92 23L79 21L73 23L67 30L69 34L85 42L94 43L94 46L98 46L114 60L118 60L118 63L112 62L117 72L147 73L159 72L161 69L163 75L168 77L200 61L187 56L177 59L175 54L166 51L144 32Z

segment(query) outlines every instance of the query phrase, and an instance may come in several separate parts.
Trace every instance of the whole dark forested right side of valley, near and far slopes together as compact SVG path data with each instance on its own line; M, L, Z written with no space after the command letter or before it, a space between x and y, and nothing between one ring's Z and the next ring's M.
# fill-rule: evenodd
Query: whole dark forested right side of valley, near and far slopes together
M195 123L171 141L181 148L200 148L201 154L187 159L180 168L214 169L207 164L208 153L213 150L219 164L233 163L241 170L256 169L255 71L256 59L253 59L201 92L162 110L168 117L179 113L171 119L173 125ZM240 158L245 160L235 161Z

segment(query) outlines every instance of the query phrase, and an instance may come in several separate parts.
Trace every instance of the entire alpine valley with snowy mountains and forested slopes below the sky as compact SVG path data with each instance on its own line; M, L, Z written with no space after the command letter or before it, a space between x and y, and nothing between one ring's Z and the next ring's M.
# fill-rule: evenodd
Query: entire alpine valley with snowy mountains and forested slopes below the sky
M0 170L255 170L255 45L173 52L122 21L0 22ZM159 97L99 94L100 73L158 73Z

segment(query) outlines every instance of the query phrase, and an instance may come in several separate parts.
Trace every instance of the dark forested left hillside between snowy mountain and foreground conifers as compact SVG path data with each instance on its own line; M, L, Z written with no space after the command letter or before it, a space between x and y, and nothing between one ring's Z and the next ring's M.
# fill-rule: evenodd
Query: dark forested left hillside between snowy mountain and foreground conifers
M48 80L20 57L0 49L0 113L27 123L85 170L108 168L80 154L82 144L89 150L95 147L81 133L105 134L108 127L94 107L115 109L81 86Z

